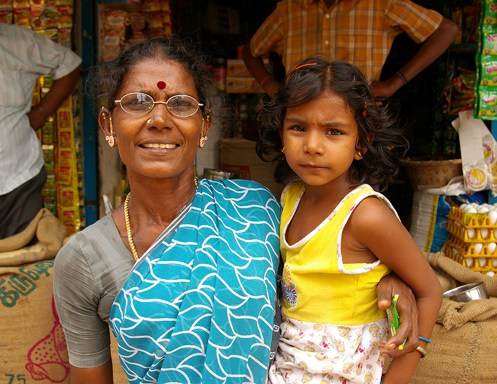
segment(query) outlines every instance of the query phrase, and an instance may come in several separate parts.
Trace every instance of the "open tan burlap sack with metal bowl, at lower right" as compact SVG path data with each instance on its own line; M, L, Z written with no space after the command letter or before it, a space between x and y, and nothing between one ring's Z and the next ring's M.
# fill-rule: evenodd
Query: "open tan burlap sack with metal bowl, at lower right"
M474 272L445 256L426 253L443 291L485 282L488 300L457 303L443 299L437 323L410 384L497 383L497 278ZM390 361L386 359L384 372Z

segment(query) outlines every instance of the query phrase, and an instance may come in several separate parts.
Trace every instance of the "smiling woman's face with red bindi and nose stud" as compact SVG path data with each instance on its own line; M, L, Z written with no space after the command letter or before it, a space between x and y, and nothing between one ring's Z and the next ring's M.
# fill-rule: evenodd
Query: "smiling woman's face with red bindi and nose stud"
M198 101L193 77L181 64L170 60L147 59L132 67L116 100L131 92L146 93L154 101L166 102L178 94L192 96ZM112 122L115 141L128 174L177 177L192 169L202 125L200 108L192 116L177 117L168 111L166 104L159 103L150 112L133 115L116 103ZM210 123L210 119L204 121L204 136L207 136Z

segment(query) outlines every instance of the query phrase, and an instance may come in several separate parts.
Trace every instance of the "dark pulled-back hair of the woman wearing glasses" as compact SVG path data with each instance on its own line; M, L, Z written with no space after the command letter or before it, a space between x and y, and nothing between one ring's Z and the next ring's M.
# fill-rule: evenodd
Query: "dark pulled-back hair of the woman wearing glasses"
M100 106L112 110L117 93L132 67L143 60L172 60L181 64L193 77L202 112L210 109L216 96L215 81L209 73L206 56L196 44L175 37L158 37L136 43L115 60L95 68L91 89ZM98 113L98 111L96 111Z

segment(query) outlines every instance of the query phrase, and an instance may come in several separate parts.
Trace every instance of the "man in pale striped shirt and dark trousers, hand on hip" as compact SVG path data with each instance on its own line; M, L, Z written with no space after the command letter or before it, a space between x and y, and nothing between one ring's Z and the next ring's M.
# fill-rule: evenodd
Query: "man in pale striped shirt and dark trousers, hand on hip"
M35 31L0 23L0 238L22 231L43 207L45 161L36 130L71 94L82 59ZM40 75L54 82L31 108Z

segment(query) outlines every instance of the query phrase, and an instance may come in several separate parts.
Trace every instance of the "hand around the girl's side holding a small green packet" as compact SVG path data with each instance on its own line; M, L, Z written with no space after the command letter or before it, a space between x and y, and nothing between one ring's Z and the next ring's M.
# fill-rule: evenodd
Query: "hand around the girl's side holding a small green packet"
M413 291L395 273L383 277L376 287L378 296L378 307L388 309L392 304L392 296L398 294L397 310L400 316L400 327L395 336L386 343L380 344L380 354L384 357L399 357L413 352L419 346L419 334L417 328L417 306ZM399 350L407 338L404 348Z

